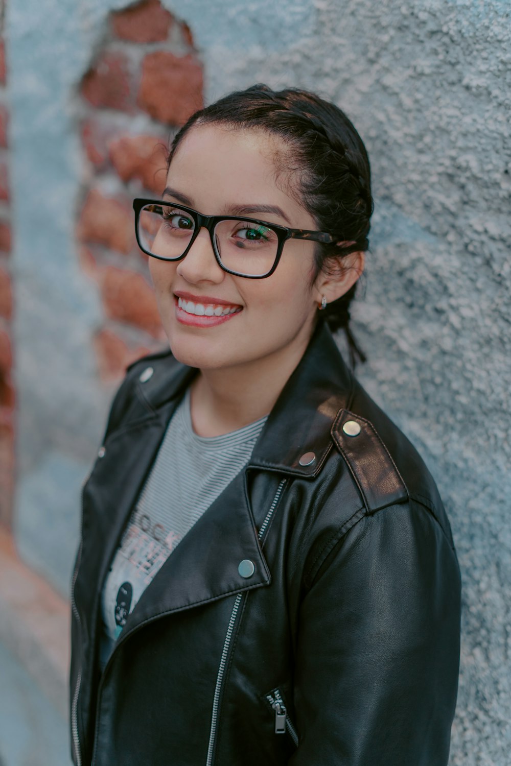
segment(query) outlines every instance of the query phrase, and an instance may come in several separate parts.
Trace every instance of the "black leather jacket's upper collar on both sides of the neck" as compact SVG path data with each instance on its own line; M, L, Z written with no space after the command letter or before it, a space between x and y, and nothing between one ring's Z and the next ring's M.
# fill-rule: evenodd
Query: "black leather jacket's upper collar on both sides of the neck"
M139 396L156 411L177 398L196 375L166 352L164 365ZM249 467L296 476L316 476L333 446L330 430L336 414L349 408L354 378L325 322L319 322L300 363L284 386L254 447ZM300 458L313 453L307 465ZM303 460L303 462L308 462Z

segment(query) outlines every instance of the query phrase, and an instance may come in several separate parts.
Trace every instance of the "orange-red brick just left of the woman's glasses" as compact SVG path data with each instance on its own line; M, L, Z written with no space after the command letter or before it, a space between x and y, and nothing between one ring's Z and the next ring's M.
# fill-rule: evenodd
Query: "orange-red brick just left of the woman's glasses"
M133 213L117 200L92 189L80 214L77 238L127 254L135 247Z

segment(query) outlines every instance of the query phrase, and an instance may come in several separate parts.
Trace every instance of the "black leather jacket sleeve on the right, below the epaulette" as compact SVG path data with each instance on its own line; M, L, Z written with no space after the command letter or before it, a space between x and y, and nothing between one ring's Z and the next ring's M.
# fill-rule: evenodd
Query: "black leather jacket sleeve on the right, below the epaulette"
M460 656L460 574L419 503L363 516L300 609L290 766L446 766Z

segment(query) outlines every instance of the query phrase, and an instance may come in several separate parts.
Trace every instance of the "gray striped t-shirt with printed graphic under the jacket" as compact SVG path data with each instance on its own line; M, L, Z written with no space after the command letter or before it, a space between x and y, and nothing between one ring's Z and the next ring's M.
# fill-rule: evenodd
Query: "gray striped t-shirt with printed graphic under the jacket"
M217 437L192 428L186 391L113 556L102 594L104 666L142 592L175 546L251 457L267 417Z

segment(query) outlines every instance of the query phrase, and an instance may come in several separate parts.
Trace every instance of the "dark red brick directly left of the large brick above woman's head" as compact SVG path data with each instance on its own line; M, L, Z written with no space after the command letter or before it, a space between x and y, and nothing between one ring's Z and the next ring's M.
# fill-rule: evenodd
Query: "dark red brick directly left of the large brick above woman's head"
M122 53L105 53L81 83L81 93L93 106L133 112L128 60Z

